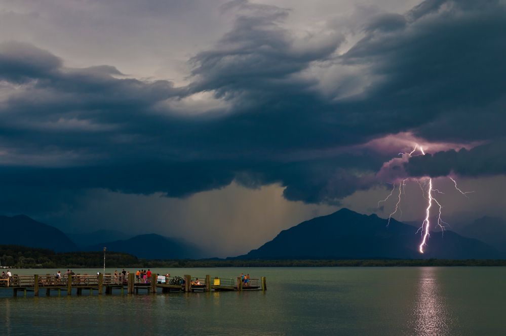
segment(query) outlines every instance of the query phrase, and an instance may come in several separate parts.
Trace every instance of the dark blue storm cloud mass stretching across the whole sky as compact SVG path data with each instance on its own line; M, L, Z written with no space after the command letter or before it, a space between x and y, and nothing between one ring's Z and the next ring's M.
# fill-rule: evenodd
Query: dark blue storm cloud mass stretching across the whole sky
M191 58L184 88L112 66L66 68L48 51L3 44L0 205L58 208L57 200L72 203L88 188L180 197L234 179L278 182L288 199L335 203L376 183L388 158L356 147L371 139L413 132L493 142L506 121L506 16L501 3L474 4L426 1L405 15L378 15L337 55L339 31L295 37L283 27L288 10L234 1L222 8L237 16L233 29ZM352 97L324 95L319 79L303 73L330 65L357 68L371 82ZM227 107L171 107L202 92ZM317 151L327 152L301 154ZM434 159L452 155L465 156ZM411 174L433 174L431 157L416 160ZM449 170L459 168L447 164L441 174ZM488 174L498 173L500 166Z

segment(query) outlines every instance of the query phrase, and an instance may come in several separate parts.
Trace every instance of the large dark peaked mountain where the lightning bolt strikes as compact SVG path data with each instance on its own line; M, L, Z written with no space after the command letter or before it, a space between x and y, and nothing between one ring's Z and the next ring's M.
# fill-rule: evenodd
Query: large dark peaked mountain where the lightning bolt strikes
M425 253L418 251L416 228L349 209L302 222L239 259L489 259L492 246L452 231L432 232Z

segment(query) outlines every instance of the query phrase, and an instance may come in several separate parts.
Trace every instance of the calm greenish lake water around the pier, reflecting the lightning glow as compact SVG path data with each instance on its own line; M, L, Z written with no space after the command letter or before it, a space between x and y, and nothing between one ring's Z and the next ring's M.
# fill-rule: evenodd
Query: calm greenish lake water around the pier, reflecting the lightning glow
M19 275L57 270L14 270ZM61 270L62 272L65 270ZM96 274L100 269L73 270ZM121 271L121 270L119 270ZM130 270L133 271L133 270ZM27 297L0 288L0 334L505 335L505 267L191 268L267 291ZM107 269L106 272L114 272Z

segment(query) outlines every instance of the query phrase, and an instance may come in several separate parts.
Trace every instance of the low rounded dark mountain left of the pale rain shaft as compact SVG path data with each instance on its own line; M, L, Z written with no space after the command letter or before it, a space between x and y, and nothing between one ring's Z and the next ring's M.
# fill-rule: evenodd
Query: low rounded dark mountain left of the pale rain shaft
M86 250L125 252L142 259L199 259L203 252L197 246L182 239L142 234L126 240L116 240L86 247Z

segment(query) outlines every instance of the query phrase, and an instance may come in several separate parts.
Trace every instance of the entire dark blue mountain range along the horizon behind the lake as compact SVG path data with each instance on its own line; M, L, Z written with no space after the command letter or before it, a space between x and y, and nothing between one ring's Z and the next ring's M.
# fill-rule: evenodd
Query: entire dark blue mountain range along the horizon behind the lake
M460 234L432 232L424 253L415 227L396 220L390 225L376 215L349 209L302 222L281 231L248 254L233 259L497 259L506 257L506 222L484 217ZM102 250L125 252L142 259L199 259L208 257L198 246L158 234L128 236L99 230L70 235L24 215L0 216L0 244L43 247L55 251ZM480 240L475 239L480 238Z

